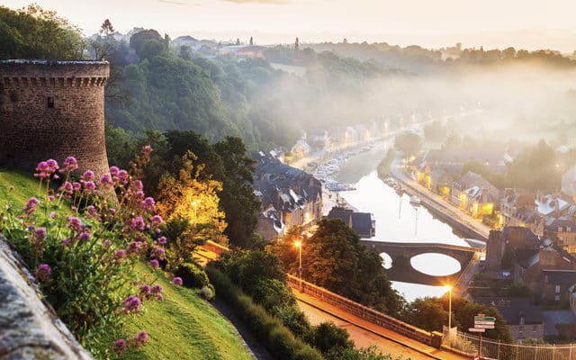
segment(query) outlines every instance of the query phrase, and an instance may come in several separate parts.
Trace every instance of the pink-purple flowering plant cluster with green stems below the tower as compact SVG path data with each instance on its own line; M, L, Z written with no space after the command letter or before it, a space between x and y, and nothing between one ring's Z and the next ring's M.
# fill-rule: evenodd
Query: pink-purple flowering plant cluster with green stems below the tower
M22 209L9 204L0 230L58 317L94 356L108 357L148 341L144 331L114 344L110 337L121 336L121 322L138 314L142 302L163 300L162 287L152 283L165 261L166 238L155 201L139 180L115 166L99 178L92 171L77 176L77 167L74 157L62 166L40 162L34 175L41 195ZM148 274L139 275L139 263L148 265Z

